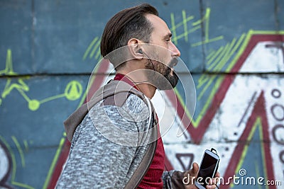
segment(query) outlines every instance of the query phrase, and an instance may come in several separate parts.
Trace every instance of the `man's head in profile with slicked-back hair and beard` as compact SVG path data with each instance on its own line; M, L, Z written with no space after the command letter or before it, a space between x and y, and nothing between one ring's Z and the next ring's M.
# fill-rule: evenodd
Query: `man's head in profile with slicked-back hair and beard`
M169 81L173 87L178 83L178 76L174 73L173 66L180 56L180 51L171 41L171 37L170 29L165 21L158 17L158 11L149 4L142 4L124 9L109 20L102 35L101 54L105 57L116 50L114 56L109 56L112 57L109 60L114 64L116 71L126 71L122 72L124 74L135 71L133 75L141 76L141 79L136 79L137 83L150 81L156 88L169 89L163 86L165 81ZM143 46L145 43L147 45ZM125 62L120 61L120 56L122 59L126 56L118 49L126 45L134 61L129 59L124 60ZM126 62L129 63L127 66ZM142 69L152 72L143 74Z

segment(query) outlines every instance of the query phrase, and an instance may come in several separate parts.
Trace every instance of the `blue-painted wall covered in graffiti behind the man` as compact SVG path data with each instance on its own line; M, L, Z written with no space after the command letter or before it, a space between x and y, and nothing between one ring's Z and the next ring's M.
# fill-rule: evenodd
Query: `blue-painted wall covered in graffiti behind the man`
M284 1L146 2L168 23L196 88L190 125L180 86L175 105L169 93L153 99L161 127L173 118L163 135L166 167L190 168L214 147L220 188L283 188ZM104 25L138 3L0 1L0 188L54 187L70 146L62 122L85 101ZM96 86L109 70L98 69Z

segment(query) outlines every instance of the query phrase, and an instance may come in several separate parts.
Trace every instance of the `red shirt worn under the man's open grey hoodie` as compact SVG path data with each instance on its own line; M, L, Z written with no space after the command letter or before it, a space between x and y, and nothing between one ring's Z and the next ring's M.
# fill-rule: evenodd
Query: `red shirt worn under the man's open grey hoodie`
M123 74L116 74L114 80L125 81L127 84L130 84L138 90L138 88L133 84L133 82ZM159 125L158 131L158 142L157 148L155 149L155 155L146 175L142 179L140 185L138 185L139 189L163 188L162 175L165 166L165 149L162 137L160 137Z

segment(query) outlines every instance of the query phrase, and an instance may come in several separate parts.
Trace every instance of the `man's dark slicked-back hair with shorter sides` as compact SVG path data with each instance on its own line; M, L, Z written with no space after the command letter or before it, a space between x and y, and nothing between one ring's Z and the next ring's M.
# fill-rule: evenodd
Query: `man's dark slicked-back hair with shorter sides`
M150 42L153 25L145 17L148 13L158 16L158 11L150 4L141 4L116 13L104 28L101 55L104 57L109 52L127 45L131 38Z

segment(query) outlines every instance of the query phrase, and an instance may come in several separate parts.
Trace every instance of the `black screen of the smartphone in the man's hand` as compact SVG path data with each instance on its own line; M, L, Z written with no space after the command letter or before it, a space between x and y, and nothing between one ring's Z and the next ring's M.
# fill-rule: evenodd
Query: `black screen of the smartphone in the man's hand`
M214 157L210 156L207 153L204 153L204 157L202 160L202 164L200 165L200 172L198 173L197 178L202 177L202 180L200 179L200 184L206 188L206 181L208 182L209 180L206 180L206 178L212 178L214 175L215 167L217 166L218 159L215 159Z

